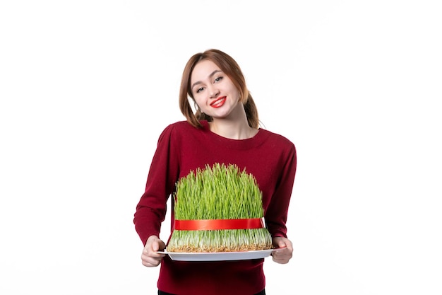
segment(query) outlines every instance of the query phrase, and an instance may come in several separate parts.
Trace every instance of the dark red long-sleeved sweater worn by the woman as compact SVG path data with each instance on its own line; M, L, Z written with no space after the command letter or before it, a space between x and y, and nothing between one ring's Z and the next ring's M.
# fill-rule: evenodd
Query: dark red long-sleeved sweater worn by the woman
M197 129L188 122L176 122L160 135L145 192L133 219L141 241L160 236L167 199L177 180L191 170L214 163L236 164L256 178L263 192L268 230L274 237L287 237L285 224L297 165L294 144L265 129L259 129L251 139L227 139L210 132L208 122L202 123L203 128ZM157 287L177 295L253 295L265 287L263 262L181 262L166 256Z

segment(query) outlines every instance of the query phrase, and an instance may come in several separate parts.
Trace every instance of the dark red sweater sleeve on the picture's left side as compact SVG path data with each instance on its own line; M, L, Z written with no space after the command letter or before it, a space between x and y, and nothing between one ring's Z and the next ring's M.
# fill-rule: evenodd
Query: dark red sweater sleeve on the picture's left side
M145 186L136 206L133 223L143 244L150 236L159 236L165 220L167 199L174 191L178 174L178 154L172 139L173 125L160 134Z

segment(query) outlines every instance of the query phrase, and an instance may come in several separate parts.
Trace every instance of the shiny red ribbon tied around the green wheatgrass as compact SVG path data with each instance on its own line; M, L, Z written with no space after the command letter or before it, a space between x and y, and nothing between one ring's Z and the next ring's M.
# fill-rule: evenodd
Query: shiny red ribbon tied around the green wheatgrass
M174 229L179 231L210 231L217 229L262 229L262 218L250 219L198 219L175 220Z

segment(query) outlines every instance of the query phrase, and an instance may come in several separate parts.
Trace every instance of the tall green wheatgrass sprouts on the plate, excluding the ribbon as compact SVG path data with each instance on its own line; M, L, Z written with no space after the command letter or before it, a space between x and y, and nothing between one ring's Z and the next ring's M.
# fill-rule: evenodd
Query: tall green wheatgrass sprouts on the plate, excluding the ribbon
M262 192L253 175L235 165L215 163L177 182L176 220L263 218ZM268 229L174 230L170 252L232 252L270 249Z

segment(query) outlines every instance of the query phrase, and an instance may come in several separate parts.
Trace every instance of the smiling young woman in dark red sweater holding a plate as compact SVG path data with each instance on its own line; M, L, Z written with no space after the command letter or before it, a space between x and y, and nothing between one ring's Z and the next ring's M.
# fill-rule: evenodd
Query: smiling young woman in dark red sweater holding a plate
M264 259L171 260L157 253L166 247L159 238L160 225L179 178L206 165L235 164L252 174L263 192L265 224L273 245L284 248L273 252L273 260L289 262L293 248L285 224L297 165L294 144L259 127L258 111L241 69L220 50L207 50L189 59L181 79L179 106L186 121L167 126L160 135L133 219L144 244L143 265L161 265L158 294L265 294Z

